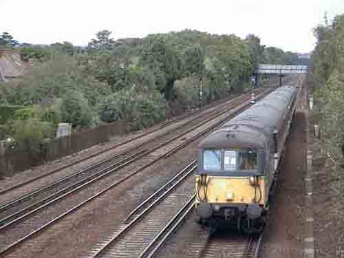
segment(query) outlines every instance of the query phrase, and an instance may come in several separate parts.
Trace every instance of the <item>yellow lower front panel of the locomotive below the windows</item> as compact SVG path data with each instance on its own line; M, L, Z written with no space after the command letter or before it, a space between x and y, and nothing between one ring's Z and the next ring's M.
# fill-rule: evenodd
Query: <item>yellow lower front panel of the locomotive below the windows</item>
M206 186L204 186L200 184L200 175L197 175L196 205L207 202L229 206L230 204L257 203L264 206L266 204L265 177L259 177L257 183L257 186L252 186L248 177L206 176Z

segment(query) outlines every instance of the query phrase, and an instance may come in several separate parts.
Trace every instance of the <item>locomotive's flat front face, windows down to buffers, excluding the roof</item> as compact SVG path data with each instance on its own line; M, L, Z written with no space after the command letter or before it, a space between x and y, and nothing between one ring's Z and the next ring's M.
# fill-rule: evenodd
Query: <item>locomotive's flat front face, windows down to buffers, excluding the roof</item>
M266 199L264 149L200 149L199 154L196 211L200 220L261 218Z

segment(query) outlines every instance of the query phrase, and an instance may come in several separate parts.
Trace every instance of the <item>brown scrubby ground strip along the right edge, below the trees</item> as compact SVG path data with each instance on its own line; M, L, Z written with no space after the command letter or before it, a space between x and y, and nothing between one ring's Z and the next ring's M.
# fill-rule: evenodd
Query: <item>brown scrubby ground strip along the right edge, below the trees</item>
M341 158L330 152L330 138L321 133L314 136L314 125L319 125L321 116L316 99L309 111L308 151L312 169L312 208L314 215L314 255L308 257L344 257L344 195Z

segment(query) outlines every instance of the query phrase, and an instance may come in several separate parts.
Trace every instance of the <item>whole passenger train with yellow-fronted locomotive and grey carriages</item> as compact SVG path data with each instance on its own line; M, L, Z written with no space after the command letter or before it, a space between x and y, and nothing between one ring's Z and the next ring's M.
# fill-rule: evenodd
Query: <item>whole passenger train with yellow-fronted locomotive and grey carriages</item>
M246 234L264 230L298 89L275 89L200 142L195 175L198 223L233 222Z

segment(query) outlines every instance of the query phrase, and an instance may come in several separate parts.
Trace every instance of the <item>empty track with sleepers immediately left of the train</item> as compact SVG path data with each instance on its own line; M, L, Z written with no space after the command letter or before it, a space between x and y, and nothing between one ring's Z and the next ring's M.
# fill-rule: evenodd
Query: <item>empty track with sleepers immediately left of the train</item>
M134 209L125 223L99 243L88 257L151 257L193 211L195 194L191 175L196 168L194 160Z

